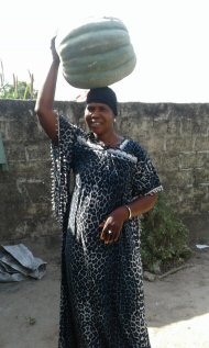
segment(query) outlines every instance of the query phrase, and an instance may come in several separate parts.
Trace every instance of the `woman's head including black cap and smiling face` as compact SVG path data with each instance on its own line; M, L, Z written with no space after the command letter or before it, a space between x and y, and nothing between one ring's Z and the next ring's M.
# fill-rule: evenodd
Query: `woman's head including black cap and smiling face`
M98 136L113 132L118 114L117 96L109 87L90 89L86 99L85 119L90 131Z

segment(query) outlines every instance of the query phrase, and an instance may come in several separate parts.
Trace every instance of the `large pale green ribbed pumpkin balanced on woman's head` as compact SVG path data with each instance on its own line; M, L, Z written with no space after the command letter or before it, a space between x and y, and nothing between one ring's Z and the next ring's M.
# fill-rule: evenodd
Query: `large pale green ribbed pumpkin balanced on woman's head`
M81 89L118 82L136 64L127 26L110 16L89 19L74 27L61 40L57 50L64 78Z

